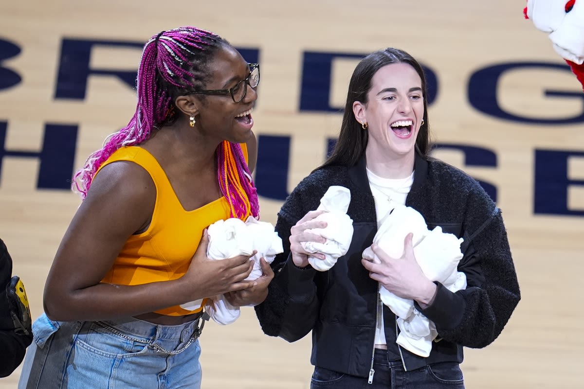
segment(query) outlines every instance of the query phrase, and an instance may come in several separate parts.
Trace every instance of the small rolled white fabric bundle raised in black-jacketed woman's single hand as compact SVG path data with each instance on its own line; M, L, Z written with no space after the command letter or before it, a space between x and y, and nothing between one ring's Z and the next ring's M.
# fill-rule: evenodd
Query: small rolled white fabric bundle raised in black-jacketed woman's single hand
M325 243L303 242L302 247L308 253L322 253L324 260L308 257L308 262L318 271L325 271L333 267L342 255L347 253L353 238L353 219L347 215L351 192L338 185L328 188L321 198L317 211L325 211L314 220L326 222L325 228L308 229L306 232L326 238Z

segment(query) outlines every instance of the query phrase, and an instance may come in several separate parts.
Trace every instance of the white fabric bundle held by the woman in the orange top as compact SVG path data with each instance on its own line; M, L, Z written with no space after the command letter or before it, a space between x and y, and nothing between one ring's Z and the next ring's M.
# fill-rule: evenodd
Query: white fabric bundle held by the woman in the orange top
M272 263L276 254L282 253L282 240L274 231L274 226L260 222L249 216L244 223L237 218L218 220L208 227L209 245L207 257L211 260L224 260L238 255L251 255L253 250L253 269L246 280L258 279L262 275L260 258ZM184 309L194 310L200 307L202 300L182 304ZM198 305L197 305L198 304ZM211 297L205 304L205 310L218 324L231 324L241 314L239 307L232 306L224 295Z

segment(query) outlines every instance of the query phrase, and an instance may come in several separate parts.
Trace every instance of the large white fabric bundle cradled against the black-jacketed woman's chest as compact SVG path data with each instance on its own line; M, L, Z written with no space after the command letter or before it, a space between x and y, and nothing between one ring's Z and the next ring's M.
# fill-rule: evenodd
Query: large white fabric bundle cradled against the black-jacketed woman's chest
M463 258L460 244L463 239L443 233L441 227L429 231L422 215L411 207L397 206L384 220L373 239L381 250L392 258L400 258L404 253L404 240L413 233L413 254L420 268L430 281L438 281L452 292L465 289L467 278L457 271L458 262ZM363 251L363 258L380 263L370 247ZM437 337L436 326L419 313L413 300L403 299L380 285L381 301L398 316L401 331L397 343L423 357L430 355L432 341Z

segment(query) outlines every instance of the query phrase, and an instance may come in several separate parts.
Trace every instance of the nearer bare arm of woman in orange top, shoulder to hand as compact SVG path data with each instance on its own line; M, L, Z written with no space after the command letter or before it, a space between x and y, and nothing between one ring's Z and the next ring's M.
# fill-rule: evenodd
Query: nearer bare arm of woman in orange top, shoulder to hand
M101 283L131 234L148 225L156 191L148 173L129 162L112 163L93 180L55 255L44 290L54 320L107 320L134 316L231 290L248 288L249 257L206 257L201 239L182 278L126 286ZM196 271L192 271L196 267Z

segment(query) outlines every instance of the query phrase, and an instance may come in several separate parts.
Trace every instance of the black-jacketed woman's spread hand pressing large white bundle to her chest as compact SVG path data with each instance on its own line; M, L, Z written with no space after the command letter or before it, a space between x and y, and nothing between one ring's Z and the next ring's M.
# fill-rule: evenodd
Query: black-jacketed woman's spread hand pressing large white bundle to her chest
M372 258L363 258L361 263L369 271L370 278L380 282L385 289L398 297L416 300L425 307L433 302L436 285L426 277L416 261L412 237L412 233L406 235L401 257L392 258L377 244L373 244L371 250L381 263L374 263Z

